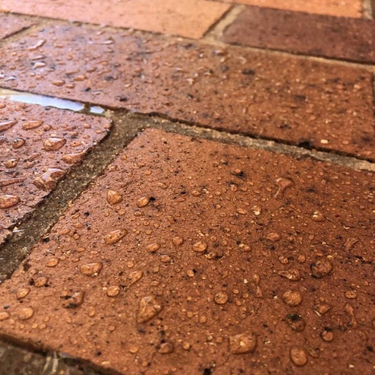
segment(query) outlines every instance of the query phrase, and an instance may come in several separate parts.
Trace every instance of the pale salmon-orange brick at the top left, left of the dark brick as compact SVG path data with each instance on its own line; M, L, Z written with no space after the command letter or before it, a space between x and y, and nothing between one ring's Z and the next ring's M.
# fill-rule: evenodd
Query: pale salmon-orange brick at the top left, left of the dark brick
M0 10L201 38L229 9L207 0L1 0Z

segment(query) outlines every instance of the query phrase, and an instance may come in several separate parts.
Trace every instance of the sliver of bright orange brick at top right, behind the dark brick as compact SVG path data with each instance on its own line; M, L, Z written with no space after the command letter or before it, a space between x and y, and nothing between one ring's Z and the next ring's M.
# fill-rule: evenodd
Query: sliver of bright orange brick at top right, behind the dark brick
M236 0L235 2L331 16L358 18L362 16L361 0Z

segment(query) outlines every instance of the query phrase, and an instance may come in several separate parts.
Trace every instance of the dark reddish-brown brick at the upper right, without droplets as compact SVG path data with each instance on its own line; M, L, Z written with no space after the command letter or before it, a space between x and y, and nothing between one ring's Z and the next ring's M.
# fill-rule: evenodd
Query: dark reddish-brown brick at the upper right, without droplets
M375 21L248 7L224 32L227 43L375 62Z

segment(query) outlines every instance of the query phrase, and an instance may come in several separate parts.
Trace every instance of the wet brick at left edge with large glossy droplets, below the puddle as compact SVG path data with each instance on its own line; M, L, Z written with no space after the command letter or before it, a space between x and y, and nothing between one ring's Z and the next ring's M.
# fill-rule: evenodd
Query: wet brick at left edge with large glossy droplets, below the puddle
M33 210L109 125L100 117L1 100L1 228ZM3 240L6 232L1 233Z

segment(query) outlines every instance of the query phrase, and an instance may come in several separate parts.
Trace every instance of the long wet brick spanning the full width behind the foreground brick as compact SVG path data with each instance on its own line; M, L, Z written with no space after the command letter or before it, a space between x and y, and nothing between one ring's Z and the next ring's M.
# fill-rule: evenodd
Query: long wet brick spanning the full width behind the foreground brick
M64 25L3 51L2 86L375 159L362 69Z

